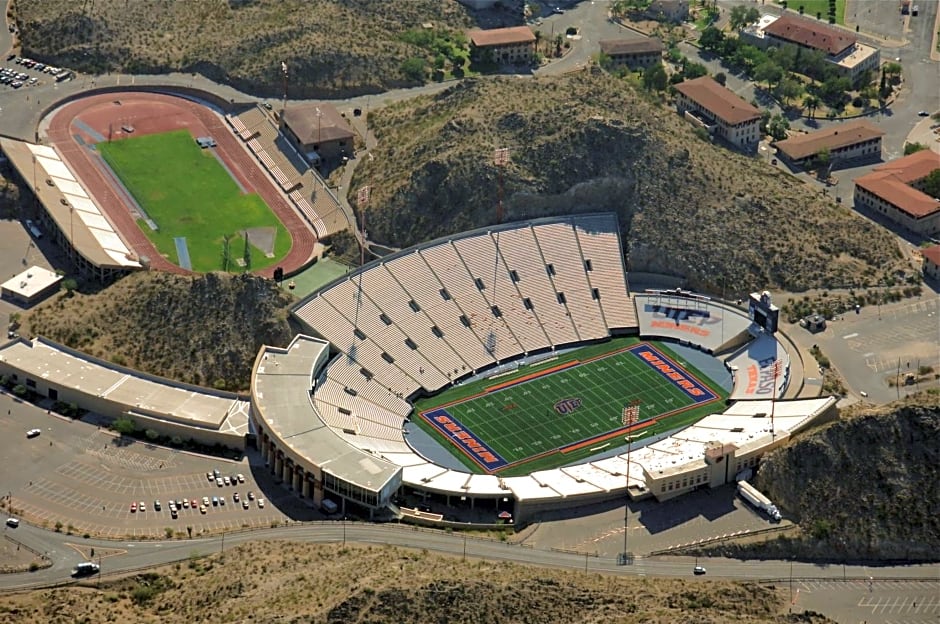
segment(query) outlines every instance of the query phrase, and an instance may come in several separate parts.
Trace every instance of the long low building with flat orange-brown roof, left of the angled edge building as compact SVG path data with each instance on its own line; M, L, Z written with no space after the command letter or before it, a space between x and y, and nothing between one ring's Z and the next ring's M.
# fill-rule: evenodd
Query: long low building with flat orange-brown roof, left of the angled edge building
M811 166L820 153L828 151L833 168L858 161L881 160L884 132L870 121L859 119L815 132L796 134L777 141L777 155L793 169Z

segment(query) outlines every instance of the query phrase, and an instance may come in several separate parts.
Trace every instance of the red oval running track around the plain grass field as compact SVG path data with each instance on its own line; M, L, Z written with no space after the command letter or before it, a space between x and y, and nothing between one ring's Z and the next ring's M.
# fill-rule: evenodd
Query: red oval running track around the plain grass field
M231 128L210 109L182 97L142 92L92 95L66 104L50 122L49 142L78 176L131 250L138 257L150 258L151 268L191 273L157 251L138 227L131 213L132 207L115 191L102 171L101 163L75 138L80 136L86 144L101 140L101 137L123 138L127 134L121 130L122 126L133 126L135 136L181 129L188 129L194 137L211 136L216 140L216 151L232 175L248 192L257 193L290 233L291 248L279 266L290 273L303 267L311 258L317 242L312 228L281 195L261 165L240 145L241 140ZM96 137L96 134L100 136ZM272 277L274 268L271 266L254 273Z

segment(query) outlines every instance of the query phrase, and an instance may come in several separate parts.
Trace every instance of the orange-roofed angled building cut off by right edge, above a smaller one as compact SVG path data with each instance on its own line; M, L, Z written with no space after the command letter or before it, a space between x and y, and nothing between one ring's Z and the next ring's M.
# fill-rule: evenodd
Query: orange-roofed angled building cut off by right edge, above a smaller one
M875 167L855 179L855 204L884 215L910 232L940 232L940 199L924 193L923 182L940 169L940 154L922 150Z

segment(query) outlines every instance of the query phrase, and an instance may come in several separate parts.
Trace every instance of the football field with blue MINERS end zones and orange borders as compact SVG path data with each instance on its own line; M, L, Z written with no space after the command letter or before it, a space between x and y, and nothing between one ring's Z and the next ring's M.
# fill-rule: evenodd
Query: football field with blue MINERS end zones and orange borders
M727 392L664 344L644 341L677 364L679 373L694 377L701 386L696 391L710 390L716 397L714 400L708 400L710 397L706 394L696 403L675 382L666 379L637 355L621 351L640 342L635 338L617 339L524 367L512 375L459 386L420 402L416 406L419 416L413 420L440 439L442 446L473 472L514 476L563 466L604 449L623 446L626 432L617 431L623 428L623 408L633 400L640 401L641 421L656 419L655 423L635 431L637 438L690 424L720 409L717 401L727 398ZM512 384L573 361L581 363L493 390L494 386ZM568 409L562 406L560 412L556 404L565 399L579 399L580 404L571 404ZM429 422L442 415L439 410L445 410L445 418L459 423L462 431L485 444L502 462L484 469L482 455L468 450L452 435L445 436ZM493 466L498 467L493 469Z

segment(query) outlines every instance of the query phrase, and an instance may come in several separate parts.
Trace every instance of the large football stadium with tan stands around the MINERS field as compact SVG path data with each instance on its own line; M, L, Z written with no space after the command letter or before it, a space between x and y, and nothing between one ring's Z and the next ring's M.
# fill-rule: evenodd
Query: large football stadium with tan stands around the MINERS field
M791 381L768 294L632 292L618 232L613 214L493 226L311 294L252 373L271 472L344 514L528 522L718 487L831 414Z

